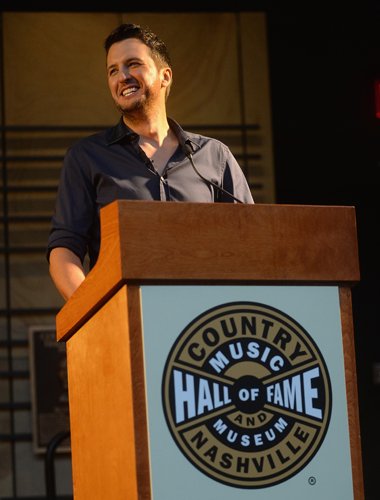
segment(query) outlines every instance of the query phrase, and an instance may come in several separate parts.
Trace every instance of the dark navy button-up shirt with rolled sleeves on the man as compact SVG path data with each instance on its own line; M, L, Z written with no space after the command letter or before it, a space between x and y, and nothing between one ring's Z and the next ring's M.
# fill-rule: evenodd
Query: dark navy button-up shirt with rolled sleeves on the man
M91 135L66 153L51 223L48 256L55 247L72 250L90 267L100 248L100 209L115 200L233 202L194 171L182 146L193 150L198 171L244 203L253 203L246 179L228 147L185 132L168 118L179 146L162 172L139 146L139 135L121 118L116 127Z

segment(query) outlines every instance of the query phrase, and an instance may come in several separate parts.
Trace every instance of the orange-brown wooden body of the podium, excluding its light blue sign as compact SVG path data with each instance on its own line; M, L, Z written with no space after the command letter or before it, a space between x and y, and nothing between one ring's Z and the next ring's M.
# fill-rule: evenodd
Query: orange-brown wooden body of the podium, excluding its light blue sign
M57 316L58 340L67 343L75 500L153 498L144 286L207 286L209 295L214 287L336 287L351 487L363 499L350 290L359 281L354 208L117 201L102 209L101 230L96 266ZM170 321L170 304L166 312ZM271 498L267 490L261 485L255 495Z

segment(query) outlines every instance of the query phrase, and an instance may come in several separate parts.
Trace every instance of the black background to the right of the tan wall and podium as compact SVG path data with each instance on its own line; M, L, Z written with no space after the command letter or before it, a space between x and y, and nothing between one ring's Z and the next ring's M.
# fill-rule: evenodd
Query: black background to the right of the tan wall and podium
M377 5L267 10L277 203L354 205L361 282L353 311L367 500L379 498L380 76ZM380 4L380 2L378 2Z

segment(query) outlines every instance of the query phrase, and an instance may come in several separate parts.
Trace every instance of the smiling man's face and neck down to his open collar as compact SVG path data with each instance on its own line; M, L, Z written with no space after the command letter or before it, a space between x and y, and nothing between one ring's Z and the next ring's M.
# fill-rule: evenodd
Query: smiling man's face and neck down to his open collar
M140 147L162 172L179 142L165 109L172 81L170 59L153 54L137 38L115 42L108 49L107 73L124 123L139 134Z

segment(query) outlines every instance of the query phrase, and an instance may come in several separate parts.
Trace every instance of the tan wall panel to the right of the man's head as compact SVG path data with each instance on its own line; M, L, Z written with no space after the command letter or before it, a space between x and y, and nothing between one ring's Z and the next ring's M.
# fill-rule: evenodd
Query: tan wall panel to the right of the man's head
M148 26L169 50L169 116L180 124L240 123L234 14L134 13L123 22Z

